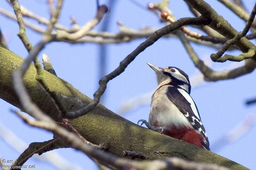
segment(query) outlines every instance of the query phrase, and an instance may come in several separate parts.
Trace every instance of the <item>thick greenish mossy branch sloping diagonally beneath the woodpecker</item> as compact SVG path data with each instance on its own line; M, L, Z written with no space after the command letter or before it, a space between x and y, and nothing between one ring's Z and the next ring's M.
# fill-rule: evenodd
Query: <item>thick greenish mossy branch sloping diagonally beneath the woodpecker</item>
M16 54L0 47L0 98L20 109L22 108L12 88L12 72L18 69L23 61L24 59ZM48 88L56 92L67 111L80 109L92 100L68 82L45 70L43 72L42 76L47 81ZM36 81L36 69L32 64L24 76L24 84L33 102L54 120L58 120L58 110ZM101 104L98 104L88 114L70 122L85 139L94 144L105 144L108 152L119 157L124 157L123 151L136 151L142 152L145 159L148 160L180 157L196 162L227 166L232 169L247 169L213 152L140 127L111 112Z

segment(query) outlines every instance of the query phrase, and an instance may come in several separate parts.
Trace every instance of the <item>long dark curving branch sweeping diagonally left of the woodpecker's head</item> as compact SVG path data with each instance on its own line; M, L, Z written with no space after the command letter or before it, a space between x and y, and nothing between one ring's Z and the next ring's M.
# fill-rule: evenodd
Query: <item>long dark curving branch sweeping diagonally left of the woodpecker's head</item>
M137 55L139 55L142 51L144 51L148 46L155 43L160 37L163 35L169 34L170 32L184 26L184 25L207 25L210 20L199 17L199 18L182 18L177 20L177 22L172 23L168 26L165 26L159 30L157 30L153 35L151 35L145 42L141 43L131 54L129 54L124 60L120 62L120 65L111 73L104 76L100 79L99 89L94 93L93 100L91 103L89 103L84 108L75 111L75 112L68 112L68 113L62 113L62 117L64 118L71 118L74 119L76 117L79 117L81 115L86 114L87 112L90 112L94 107L99 103L100 96L104 93L104 91L107 88L108 81L112 80L119 74L123 73L125 68L136 58Z

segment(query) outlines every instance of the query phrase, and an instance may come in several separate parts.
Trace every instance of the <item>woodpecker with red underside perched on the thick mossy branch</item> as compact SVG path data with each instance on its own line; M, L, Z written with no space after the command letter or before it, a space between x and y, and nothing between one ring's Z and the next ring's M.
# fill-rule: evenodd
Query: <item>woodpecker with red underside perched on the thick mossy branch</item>
M151 97L148 122L138 123L142 121L150 129L210 151L198 109L189 95L188 75L177 67L147 64L156 72L158 87Z

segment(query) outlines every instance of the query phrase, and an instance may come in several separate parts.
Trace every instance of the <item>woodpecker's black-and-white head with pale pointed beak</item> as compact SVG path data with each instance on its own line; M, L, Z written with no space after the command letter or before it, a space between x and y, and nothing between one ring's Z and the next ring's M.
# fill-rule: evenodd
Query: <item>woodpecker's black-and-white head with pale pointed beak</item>
M172 85L184 89L190 94L191 86L188 75L185 72L177 67L160 68L148 62L146 63L156 72L158 85Z

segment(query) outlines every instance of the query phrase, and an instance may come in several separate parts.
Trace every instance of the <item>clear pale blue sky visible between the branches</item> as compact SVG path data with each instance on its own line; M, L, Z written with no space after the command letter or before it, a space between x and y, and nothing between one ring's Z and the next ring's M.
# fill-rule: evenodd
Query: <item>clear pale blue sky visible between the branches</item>
M20 0L19 2L37 15L50 18L45 0ZM108 1L100 1L100 4L106 2ZM141 0L139 2L146 6L150 2L154 3L157 1ZM227 19L235 29L238 31L243 30L244 21L239 19L232 12L226 11L224 5L217 1L208 0L206 2L222 15L224 19ZM246 0L245 5L247 10L252 10L254 3L255 1L253 0ZM12 7L7 1L0 0L0 4L2 8L13 12ZM184 1L172 1L169 7L177 19L193 16L188 12L188 7ZM59 23L66 27L71 27L69 17L73 16L78 24L82 26L95 16L95 10L96 3L94 1L65 1ZM164 23L161 23L153 12L141 9L130 1L116 2L115 6L110 9L103 20L108 15L111 16L108 27L109 32L112 33L118 33L119 31L120 26L116 24L117 21L121 21L126 27L132 29L140 29L142 27L160 28L164 26ZM30 21L37 23L34 20ZM101 29L102 21L94 28L95 30ZM28 53L17 36L19 29L16 21L0 14L0 23L0 28L5 36L9 50L26 58ZM33 45L36 45L36 43L40 41L40 34L29 28L26 29L26 32ZM105 73L102 73L102 69L99 67L100 45L98 44L53 42L46 45L39 53L39 56L42 56L43 53L47 54L60 78L68 81L76 89L79 89L82 93L92 98L93 93L98 89L99 75L113 71L119 65L119 62L143 41L145 41L144 38L128 43L108 44ZM252 41L252 43L255 43L255 41ZM216 49L205 48L195 43L192 43L192 47L199 58L203 59L216 71L226 70L230 67L238 67L244 63L212 63L209 60L210 54L216 53ZM228 54L234 55L238 55L239 53L240 51L238 50L228 52ZM101 103L113 112L121 113L121 104L133 98L140 97L141 95L152 93L157 87L156 75L146 62L159 67L176 66L186 72L190 79L195 75L196 77L200 77L200 73L193 65L181 42L177 38L161 38L139 54L125 69L124 73L108 83ZM256 149L254 144L256 126L252 126L250 130L236 142L225 144L223 136L246 119L248 114L250 120L255 119L256 105L245 105L247 99L256 97L255 76L256 73L254 71L233 80L205 82L199 86L192 87L191 90L191 97L198 107L212 152L236 161L250 169L256 169L255 162L252 161ZM149 97L145 99L145 101L150 101L150 95L147 96ZM52 138L51 133L42 129L29 127L20 118L10 112L11 108L15 109L11 104L0 100L0 108L0 133L4 132L2 128L4 126L24 141L25 146L28 146L31 142L43 142ZM139 119L148 120L149 109L150 103L146 102L146 104L136 109L122 113L122 116L137 123ZM10 132L7 133L10 134ZM16 145L20 146L21 144L19 141L16 141ZM20 152L13 149L13 147L6 143L1 137L0 146L2 146L0 149L2 159L15 160L20 155ZM97 166L80 151L58 149L56 152L70 163L76 164L83 169L87 169L87 167L88 169L97 168ZM35 158L30 158L25 165L36 165L36 169L45 169L45 167L47 169L55 169L50 163L39 161Z

